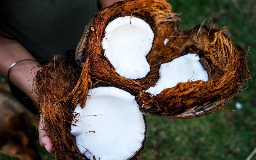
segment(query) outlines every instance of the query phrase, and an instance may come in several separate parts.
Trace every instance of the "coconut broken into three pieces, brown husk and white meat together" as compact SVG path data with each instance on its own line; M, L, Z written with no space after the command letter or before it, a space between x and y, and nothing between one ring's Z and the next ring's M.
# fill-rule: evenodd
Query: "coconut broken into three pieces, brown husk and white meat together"
M181 34L171 10L165 0L117 2L88 24L75 58L57 56L38 71L40 113L57 158L138 157L141 113L195 118L241 91L243 49L211 27Z

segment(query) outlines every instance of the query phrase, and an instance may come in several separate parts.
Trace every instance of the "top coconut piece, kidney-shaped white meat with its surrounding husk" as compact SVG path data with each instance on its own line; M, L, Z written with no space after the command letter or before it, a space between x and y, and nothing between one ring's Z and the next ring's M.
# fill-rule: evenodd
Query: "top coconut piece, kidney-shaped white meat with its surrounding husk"
M118 2L98 12L85 28L76 60L82 67L90 59L95 83L118 85L136 94L157 82L160 61L169 58L159 48L166 37L172 41L175 36L178 18L165 0Z

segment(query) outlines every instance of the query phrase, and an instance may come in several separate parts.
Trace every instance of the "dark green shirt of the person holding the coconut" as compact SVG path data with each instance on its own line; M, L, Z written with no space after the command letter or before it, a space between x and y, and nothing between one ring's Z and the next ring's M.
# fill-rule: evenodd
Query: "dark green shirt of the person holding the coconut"
M75 50L97 10L97 0L1 0L0 28L45 62Z

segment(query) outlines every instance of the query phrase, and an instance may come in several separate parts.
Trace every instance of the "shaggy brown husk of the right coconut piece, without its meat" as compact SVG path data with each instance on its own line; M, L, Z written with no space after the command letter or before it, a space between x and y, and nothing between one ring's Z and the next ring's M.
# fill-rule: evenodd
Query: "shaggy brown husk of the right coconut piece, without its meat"
M198 25L171 45L177 48L169 54L199 55L209 81L179 83L156 96L140 92L137 100L144 114L185 119L207 115L241 92L239 85L249 78L244 50L231 42L224 30Z

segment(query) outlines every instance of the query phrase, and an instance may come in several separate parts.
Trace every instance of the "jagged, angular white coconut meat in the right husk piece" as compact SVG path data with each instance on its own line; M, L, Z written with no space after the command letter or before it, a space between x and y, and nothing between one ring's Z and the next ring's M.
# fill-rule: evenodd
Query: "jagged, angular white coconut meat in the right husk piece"
M208 81L208 74L199 60L200 58L197 54L188 53L161 64L158 81L154 87L150 87L146 92L156 95L180 82Z

